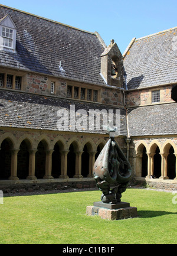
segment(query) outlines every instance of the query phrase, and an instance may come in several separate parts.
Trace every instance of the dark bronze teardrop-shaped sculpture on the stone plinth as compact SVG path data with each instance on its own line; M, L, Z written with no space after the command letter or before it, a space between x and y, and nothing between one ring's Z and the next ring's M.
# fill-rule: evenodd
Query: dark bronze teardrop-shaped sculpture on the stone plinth
M118 203L127 189L132 167L120 147L110 137L93 167L94 179L101 190L103 203ZM114 185L111 189L110 187Z

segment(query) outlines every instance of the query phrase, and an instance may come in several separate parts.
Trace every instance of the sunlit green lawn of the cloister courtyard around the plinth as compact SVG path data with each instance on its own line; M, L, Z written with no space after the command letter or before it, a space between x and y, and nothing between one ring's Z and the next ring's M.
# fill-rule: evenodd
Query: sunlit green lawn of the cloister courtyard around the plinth
M100 191L4 197L0 244L176 244L172 193L127 189L122 201L139 218L109 221L87 216Z

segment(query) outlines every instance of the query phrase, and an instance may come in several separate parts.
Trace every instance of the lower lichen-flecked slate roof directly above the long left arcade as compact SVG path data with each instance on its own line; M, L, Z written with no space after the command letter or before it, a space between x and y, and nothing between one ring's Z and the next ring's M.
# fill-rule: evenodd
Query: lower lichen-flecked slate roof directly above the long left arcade
M88 129L83 129L80 132L105 134L102 126L100 126L100 131L97 131L95 127L93 131L90 131L89 129L89 110L99 109L101 111L102 109L106 109L105 105L71 101L70 99L57 99L40 95L29 95L28 93L11 92L8 90L0 90L0 128L15 127L58 131L57 121L60 117L57 116L57 112L60 109L66 109L69 115L68 124L70 125L71 105L75 106L75 111L78 109L87 111L88 116L86 116L86 118ZM107 113L108 109L115 108L107 106ZM120 114L120 135L127 135L125 109L120 109ZM80 116L78 116L78 118L80 118ZM78 118L76 116L76 121ZM70 127L67 126L64 131L70 131ZM77 128L76 131L78 131Z

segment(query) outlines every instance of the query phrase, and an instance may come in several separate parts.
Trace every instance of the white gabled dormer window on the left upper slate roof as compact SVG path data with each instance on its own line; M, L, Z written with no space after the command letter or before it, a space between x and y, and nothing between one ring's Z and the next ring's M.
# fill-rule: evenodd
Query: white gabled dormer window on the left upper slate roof
M16 31L17 27L10 15L6 15L0 20L0 47L2 50L5 48L15 50Z

